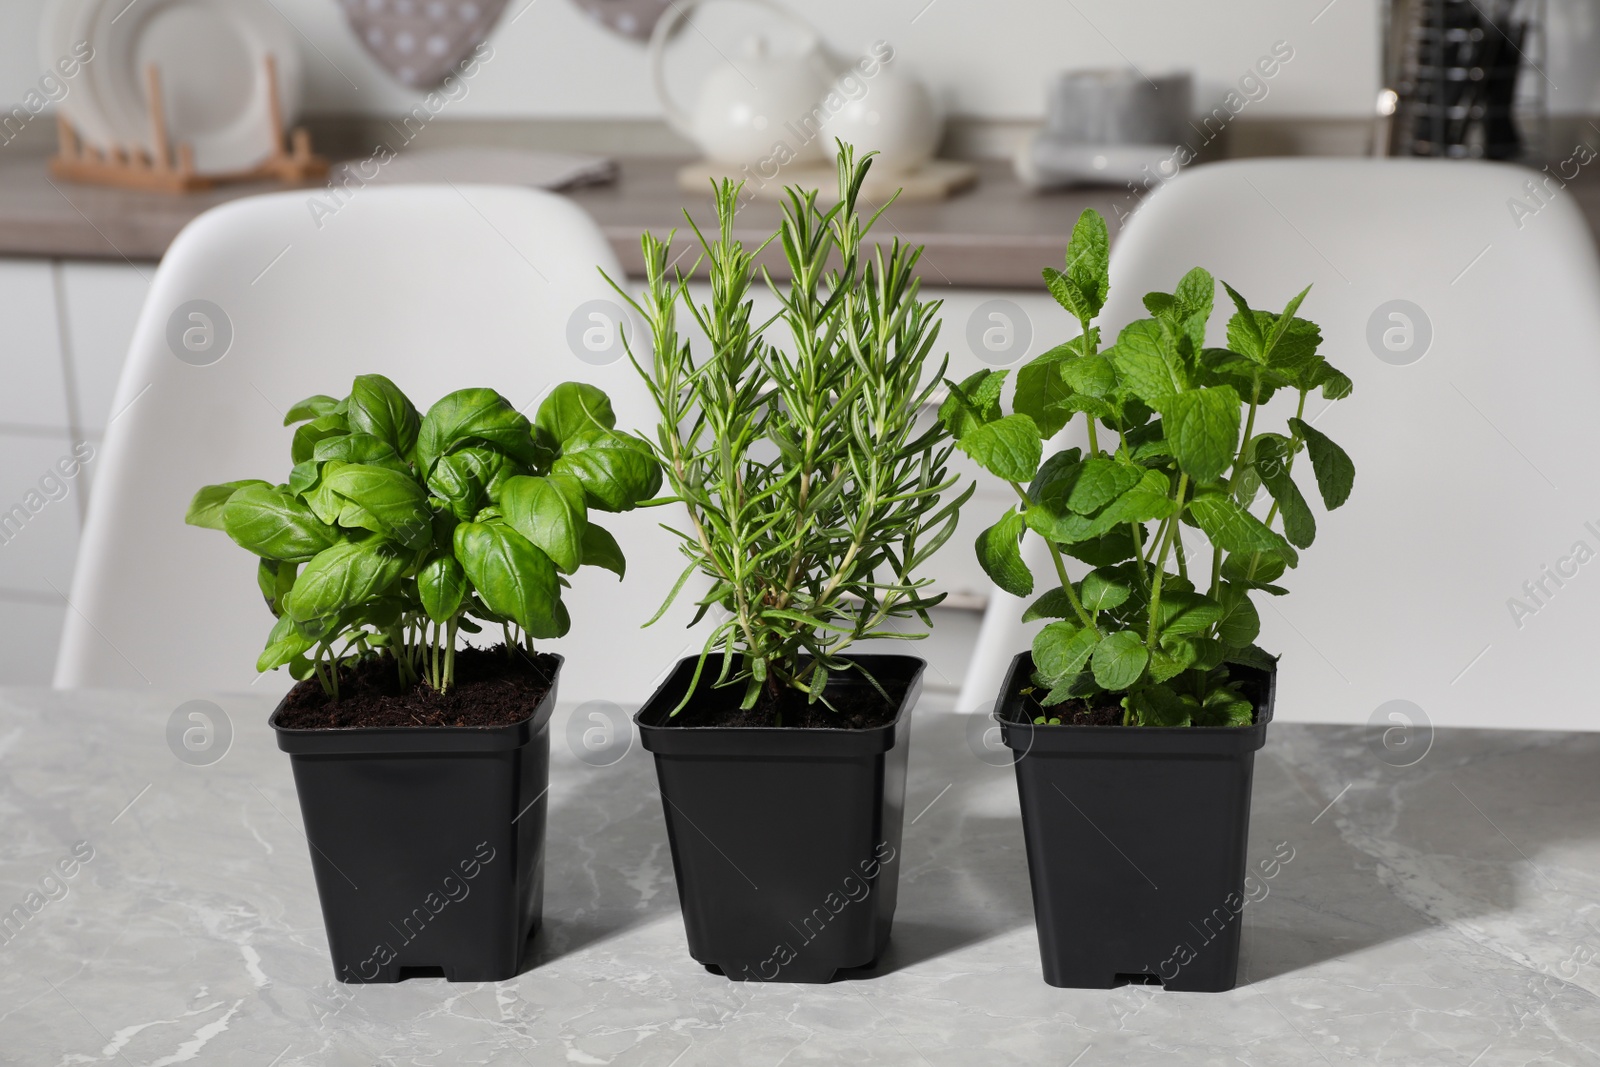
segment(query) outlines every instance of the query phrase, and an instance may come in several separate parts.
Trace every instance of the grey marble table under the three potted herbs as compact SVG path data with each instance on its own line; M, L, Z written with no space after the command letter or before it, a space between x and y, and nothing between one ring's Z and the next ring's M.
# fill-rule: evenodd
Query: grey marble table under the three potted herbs
M1600 1064L1600 736L1440 731L1402 768L1366 729L1274 726L1250 851L1293 859L1245 907L1238 989L1059 990L1011 771L930 697L893 945L806 987L688 958L650 760L581 763L563 709L533 965L341 985L270 701L216 697L232 742L197 766L184 699L0 691L6 1064Z

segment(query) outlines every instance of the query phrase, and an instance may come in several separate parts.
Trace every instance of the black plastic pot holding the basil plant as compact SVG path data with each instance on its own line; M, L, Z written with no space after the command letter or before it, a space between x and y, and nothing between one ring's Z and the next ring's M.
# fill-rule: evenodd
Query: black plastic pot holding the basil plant
M286 729L272 713L341 982L517 974L544 905L558 680L510 726Z

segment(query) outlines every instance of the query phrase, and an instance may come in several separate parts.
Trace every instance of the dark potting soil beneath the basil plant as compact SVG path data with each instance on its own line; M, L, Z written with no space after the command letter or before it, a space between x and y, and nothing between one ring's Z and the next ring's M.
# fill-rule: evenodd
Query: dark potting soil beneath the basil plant
M533 715L555 678L555 656L531 659L504 646L456 653L456 685L438 693L426 685L400 688L387 656L362 659L339 675L339 699L330 701L315 678L290 689L278 710L288 729L354 726L510 726Z

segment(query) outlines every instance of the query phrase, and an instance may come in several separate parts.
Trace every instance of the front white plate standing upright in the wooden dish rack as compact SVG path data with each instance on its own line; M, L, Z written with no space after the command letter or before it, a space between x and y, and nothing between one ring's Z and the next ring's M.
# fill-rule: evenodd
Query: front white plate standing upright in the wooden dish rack
M86 101L118 144L154 149L146 67L162 70L166 134L195 170L248 170L272 152L262 59L277 59L283 123L301 102L294 37L266 0L78 0L77 38L94 46Z

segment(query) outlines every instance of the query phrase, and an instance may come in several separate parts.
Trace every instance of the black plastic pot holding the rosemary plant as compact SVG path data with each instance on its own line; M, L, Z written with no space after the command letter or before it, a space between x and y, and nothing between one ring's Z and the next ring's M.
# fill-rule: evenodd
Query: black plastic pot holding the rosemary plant
M904 691L893 723L669 725L694 675L693 657L634 717L656 753L690 955L730 979L827 982L834 971L874 963L888 945L923 662L853 659L891 694ZM710 677L707 669L696 704L738 702L738 688L714 689ZM834 683L870 688L853 677Z

